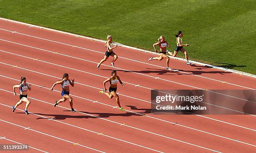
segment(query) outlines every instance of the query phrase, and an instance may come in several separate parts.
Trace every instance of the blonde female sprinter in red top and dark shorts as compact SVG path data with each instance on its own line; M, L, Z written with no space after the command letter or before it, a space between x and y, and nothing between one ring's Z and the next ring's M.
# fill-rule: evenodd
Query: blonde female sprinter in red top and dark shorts
M167 43L167 41L165 41L164 36L161 35L160 38L158 38L158 42L154 43L153 47L155 49L155 52L157 53L158 51L156 50L156 45L159 46L160 48L160 56L159 57L151 57L148 59L148 61L150 60L162 60L163 58L166 59L166 66L167 66L167 70L172 70L171 68L169 68L169 60L170 58L166 55L166 46L170 47L169 44Z

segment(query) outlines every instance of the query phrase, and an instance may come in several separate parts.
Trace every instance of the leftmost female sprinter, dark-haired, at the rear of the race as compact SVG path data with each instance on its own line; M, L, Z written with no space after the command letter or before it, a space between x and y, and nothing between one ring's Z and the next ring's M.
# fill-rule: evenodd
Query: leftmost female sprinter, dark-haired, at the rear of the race
M16 95L15 88L20 89L20 101L18 103L16 103L15 106L13 106L13 112L17 108L18 105L22 104L23 102L26 102L25 113L28 115L28 106L30 104L30 101L27 98L28 97L27 91L28 90L31 91L31 84L29 84L29 86L28 86L26 83L26 78L21 77L20 84L13 86L13 95L14 96Z

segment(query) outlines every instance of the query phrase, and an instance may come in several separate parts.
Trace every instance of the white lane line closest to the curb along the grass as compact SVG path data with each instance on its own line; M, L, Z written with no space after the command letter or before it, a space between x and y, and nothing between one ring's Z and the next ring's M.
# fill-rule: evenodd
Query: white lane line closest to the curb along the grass
M2 29L2 28L0 28L0 30L13 32L13 31L10 31L10 30ZM26 34L23 34L23 33L17 33L17 34L26 35ZM50 42L54 42L54 43L59 43L59 44L62 44L62 45L68 45L68 46L72 46L72 47L76 47L76 48L80 48L80 49L84 49L84 50L90 50L90 51L93 51L93 52L97 52L97 53L104 54L104 53L99 52L99 51L96 51L96 50L91 50L91 49L88 49L88 48L82 48L82 47L78 47L78 46L70 45L70 44L66 44L66 43L61 43L61 42L54 41L54 40L48 40L48 39L36 37L36 36L33 36L33 35L26 35L26 36L33 37L33 38L38 38L38 39L41 39L41 40L46 40L46 41L50 41ZM120 57L120 56L118 56L118 57L119 57L119 58L123 58L123 57ZM158 66L158 65L154 65L154 64L149 64L149 63L141 62L141 61L138 61L138 60L133 60L133 59L130 59L130 58L123 58L123 59L131 60L131 61L134 61L134 62L143 63L143 64L147 64L147 65L156 66L156 67L159 67L159 68L165 68L165 67L162 67L162 66ZM191 74L191 73L186 73L186 72L179 71L179 70L174 70L174 72L176 72L176 71L178 71L178 72L180 72L180 73L185 73L185 74L193 75L193 76L196 76L196 77L201 77L201 78L206 78L206 79L210 79L210 80L214 80L214 81L218 81L218 82L223 82L223 81L221 81L221 80L216 80L216 79L207 78L207 77L200 76L200 75L195 75L195 74ZM227 82L227 83L228 83L228 82ZM230 85L236 85L236 86L243 87L243 88L248 88L248 87L244 87L244 86L237 85L237 84L234 84L234 83L228 83L228 84L230 84ZM251 89L251 88L248 88L248 89Z

